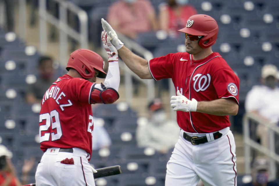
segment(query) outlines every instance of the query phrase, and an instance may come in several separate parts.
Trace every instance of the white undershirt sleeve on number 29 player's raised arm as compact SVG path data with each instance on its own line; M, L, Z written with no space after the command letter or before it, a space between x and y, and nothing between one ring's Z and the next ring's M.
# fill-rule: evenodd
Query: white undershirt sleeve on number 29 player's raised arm
M108 73L104 81L105 87L114 88L118 91L119 83L120 83L120 72L119 72L119 65L118 61L113 61L108 63ZM103 90L101 84L96 84L94 88L98 88Z

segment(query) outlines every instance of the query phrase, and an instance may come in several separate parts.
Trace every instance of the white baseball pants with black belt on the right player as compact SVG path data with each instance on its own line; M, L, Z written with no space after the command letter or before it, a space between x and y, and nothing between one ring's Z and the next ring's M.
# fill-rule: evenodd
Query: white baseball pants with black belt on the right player
M167 163L165 186L196 186L200 179L205 186L236 186L235 140L229 127L219 130L219 139L199 145L185 140L183 132Z

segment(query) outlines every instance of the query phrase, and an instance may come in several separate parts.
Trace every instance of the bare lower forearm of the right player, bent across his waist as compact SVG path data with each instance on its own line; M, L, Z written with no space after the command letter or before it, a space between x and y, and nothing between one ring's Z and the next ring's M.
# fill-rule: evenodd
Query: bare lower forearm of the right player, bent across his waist
M217 99L213 101L199 101L197 111L217 116L237 115L238 104L230 99Z

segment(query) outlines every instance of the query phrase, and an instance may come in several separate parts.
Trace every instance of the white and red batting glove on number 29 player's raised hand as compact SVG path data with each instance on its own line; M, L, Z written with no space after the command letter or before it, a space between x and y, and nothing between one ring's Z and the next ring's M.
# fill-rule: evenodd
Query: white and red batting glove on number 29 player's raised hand
M117 49L111 44L110 38L108 37L108 33L106 31L102 32L101 38L105 51L108 54L108 62L118 61Z

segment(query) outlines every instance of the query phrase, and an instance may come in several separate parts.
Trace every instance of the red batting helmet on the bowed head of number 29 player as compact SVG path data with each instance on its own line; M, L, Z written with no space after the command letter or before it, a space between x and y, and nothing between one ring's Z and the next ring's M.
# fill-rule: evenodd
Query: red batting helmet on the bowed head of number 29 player
M70 67L78 71L83 78L93 78L95 69L99 71L98 78L105 78L107 75L103 69L103 58L88 49L78 49L72 52L66 67L67 71L69 71Z

